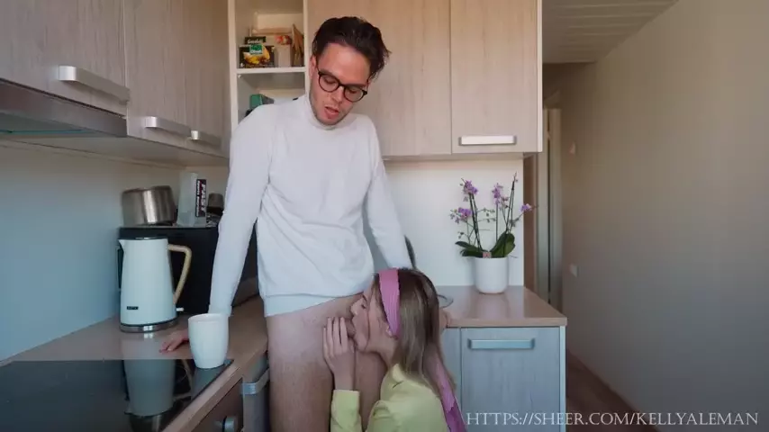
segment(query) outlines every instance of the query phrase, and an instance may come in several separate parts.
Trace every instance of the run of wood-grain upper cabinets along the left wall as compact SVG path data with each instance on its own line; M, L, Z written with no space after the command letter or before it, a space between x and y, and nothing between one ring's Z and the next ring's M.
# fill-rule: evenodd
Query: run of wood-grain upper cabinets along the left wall
M226 163L227 23L222 0L5 0L0 78L39 91L24 89L29 97L60 98L12 106L41 121L32 129L14 121L20 129L4 139L173 165ZM21 92L17 85L5 88ZM57 129L39 129L50 125Z

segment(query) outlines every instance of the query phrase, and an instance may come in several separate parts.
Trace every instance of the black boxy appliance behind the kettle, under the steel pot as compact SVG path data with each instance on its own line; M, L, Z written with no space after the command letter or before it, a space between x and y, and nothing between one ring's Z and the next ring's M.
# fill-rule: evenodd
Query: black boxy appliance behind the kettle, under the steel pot
M219 227L122 227L118 229L118 238L167 237L168 243L186 246L192 249L192 261L185 288L176 302L176 308L181 308L179 315L195 315L208 311L211 298L211 275L213 273L213 257L216 254L216 242L219 239ZM173 286L179 280L184 264L183 254L170 254ZM118 247L118 287L120 287L122 269L122 248ZM251 231L251 241L243 272L240 275L240 286L232 300L232 306L237 306L258 295L257 267L257 234Z

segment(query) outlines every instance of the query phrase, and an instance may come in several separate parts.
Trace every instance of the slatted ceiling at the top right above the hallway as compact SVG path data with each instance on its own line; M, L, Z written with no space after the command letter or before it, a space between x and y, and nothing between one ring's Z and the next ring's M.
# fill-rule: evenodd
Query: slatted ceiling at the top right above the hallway
M542 0L542 60L602 58L676 0Z

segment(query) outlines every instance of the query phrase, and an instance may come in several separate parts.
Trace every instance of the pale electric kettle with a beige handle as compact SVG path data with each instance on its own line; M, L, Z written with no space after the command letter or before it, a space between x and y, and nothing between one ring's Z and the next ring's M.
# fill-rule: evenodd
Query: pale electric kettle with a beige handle
M192 261L189 247L168 244L165 237L121 238L122 272L120 328L149 332L176 325L176 301L185 287ZM169 252L185 254L176 288L173 287Z

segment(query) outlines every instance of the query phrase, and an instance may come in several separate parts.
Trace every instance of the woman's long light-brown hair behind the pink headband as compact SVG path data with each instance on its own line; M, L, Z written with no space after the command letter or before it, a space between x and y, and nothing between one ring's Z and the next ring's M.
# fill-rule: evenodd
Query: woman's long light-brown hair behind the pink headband
M430 278L418 270L399 269L400 313L397 349L394 364L412 379L428 385L440 396L440 386L434 371L436 359L446 369L440 344L440 306L438 293ZM374 294L382 304L379 275L375 275ZM446 369L448 374L448 369ZM448 374L452 391L454 380Z

